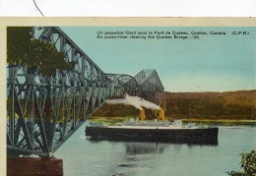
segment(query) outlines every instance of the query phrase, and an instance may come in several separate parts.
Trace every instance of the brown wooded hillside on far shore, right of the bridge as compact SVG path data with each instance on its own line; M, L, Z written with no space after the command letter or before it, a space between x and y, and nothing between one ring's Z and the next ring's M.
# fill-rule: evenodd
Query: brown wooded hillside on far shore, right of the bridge
M163 92L172 118L256 119L256 89L226 92Z

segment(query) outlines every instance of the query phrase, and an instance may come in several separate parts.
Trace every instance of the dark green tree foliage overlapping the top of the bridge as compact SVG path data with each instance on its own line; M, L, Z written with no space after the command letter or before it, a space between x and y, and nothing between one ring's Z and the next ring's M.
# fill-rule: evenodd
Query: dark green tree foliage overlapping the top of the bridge
M32 38L32 27L9 27L7 29L7 62L10 65L23 64L39 68L42 75L54 75L60 71L72 70L75 62L65 62L64 52L50 42Z

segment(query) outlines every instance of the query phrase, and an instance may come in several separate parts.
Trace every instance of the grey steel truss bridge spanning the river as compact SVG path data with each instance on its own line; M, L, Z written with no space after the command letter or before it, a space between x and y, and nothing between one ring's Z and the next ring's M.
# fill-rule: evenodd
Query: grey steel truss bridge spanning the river
M51 157L107 98L125 93L154 100L163 91L155 70L135 77L105 74L61 29L32 28L32 37L51 42L75 69L42 76L23 64L7 66L8 154Z

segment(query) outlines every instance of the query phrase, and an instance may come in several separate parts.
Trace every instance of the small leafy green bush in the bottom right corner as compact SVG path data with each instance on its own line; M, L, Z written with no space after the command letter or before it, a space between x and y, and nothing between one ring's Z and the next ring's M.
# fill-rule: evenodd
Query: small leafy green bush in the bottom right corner
M231 175L231 176L256 175L256 151L252 150L249 153L242 152L240 155L241 155L240 164L244 172L231 171L231 172L228 172L228 175Z

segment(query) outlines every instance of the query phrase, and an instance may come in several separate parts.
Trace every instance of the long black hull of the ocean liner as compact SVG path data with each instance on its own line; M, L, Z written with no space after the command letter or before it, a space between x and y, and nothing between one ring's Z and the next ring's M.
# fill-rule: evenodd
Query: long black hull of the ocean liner
M87 127L86 136L92 141L129 141L175 144L218 145L219 128L195 129L132 129Z

